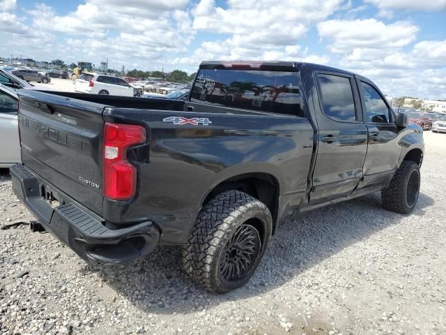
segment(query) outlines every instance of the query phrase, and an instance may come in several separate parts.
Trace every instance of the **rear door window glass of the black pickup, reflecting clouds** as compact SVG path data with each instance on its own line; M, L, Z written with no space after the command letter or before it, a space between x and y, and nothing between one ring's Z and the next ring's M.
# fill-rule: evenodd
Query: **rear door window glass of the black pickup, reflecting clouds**
M356 121L353 90L348 77L318 74L323 112L335 121Z

